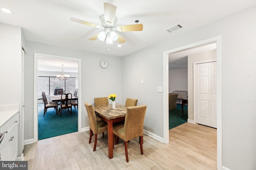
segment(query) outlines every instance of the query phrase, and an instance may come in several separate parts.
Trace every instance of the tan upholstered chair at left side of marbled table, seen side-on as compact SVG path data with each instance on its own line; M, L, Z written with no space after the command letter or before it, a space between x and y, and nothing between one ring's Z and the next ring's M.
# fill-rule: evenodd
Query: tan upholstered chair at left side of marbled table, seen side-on
M89 143L91 143L92 133L94 133L95 137L94 137L93 151L95 151L96 150L96 145L97 145L97 134L102 133L102 132L107 132L108 131L108 124L103 120L97 121L94 108L91 104L89 104L88 102L85 102L84 106L85 106L87 114L88 114L89 126L90 126Z

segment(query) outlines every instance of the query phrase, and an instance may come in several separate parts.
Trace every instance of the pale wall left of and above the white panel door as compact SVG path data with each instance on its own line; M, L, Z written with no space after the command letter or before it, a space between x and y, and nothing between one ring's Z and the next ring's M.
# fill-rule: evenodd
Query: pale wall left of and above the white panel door
M194 120L193 63L207 60L216 61L216 50L188 55L188 119Z

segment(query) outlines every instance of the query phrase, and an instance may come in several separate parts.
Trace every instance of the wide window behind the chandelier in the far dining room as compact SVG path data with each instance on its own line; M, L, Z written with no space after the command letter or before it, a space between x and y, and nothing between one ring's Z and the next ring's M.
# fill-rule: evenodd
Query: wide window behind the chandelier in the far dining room
M38 96L42 96L43 91L46 96L52 96L56 88L63 88L65 93L74 94L76 78L70 77L68 80L59 80L57 77L38 76Z

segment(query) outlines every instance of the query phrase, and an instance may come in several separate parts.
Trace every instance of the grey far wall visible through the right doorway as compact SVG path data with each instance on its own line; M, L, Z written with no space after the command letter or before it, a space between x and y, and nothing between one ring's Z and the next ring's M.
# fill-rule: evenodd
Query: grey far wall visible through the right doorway
M188 68L169 70L169 93L175 90L188 91Z

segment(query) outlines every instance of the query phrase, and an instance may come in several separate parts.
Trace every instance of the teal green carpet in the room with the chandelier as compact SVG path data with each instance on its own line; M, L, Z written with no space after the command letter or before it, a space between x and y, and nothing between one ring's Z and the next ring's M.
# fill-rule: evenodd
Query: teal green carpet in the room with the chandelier
M44 104L38 104L38 140L78 131L78 110L72 107L72 116L62 111L56 115L54 108L48 108L44 115Z

